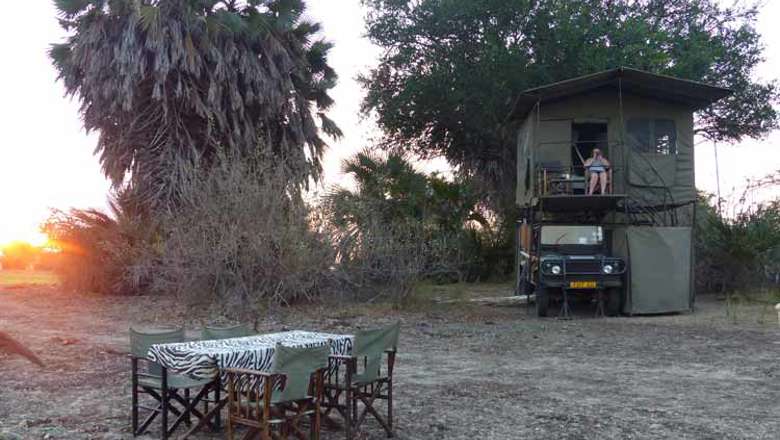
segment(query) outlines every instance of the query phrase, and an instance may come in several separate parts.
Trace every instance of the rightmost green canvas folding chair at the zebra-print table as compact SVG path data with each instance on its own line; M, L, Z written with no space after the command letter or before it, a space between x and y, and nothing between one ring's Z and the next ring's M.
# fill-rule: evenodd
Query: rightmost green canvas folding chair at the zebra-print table
M393 367L398 348L400 323L389 327L363 330L355 333L352 356L333 355L330 357L329 375L325 383L325 416L336 410L344 418L348 440L371 414L385 429L388 437L393 432ZM387 366L383 372L382 360L387 356ZM344 365L342 382L341 365ZM340 402L344 395L344 403ZM375 403L387 401L386 417L380 414ZM358 413L359 405L362 411Z

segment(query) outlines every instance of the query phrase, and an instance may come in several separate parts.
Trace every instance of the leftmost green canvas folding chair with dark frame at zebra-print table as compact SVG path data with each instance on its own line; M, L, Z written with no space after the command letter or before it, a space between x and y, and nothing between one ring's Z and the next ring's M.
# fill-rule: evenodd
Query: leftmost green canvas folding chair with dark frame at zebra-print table
M219 380L197 380L187 376L169 374L168 369L146 357L149 347L153 344L168 344L182 342L184 330L157 330L139 331L130 329L130 360L132 366L132 427L133 435L141 435L149 428L149 425L159 415L162 429L161 437L167 439L181 424L191 424L191 416L203 418L208 412L209 402L219 401ZM145 368L139 368L145 367ZM199 390L194 398L190 396L191 390ZM208 395L214 391L214 400L209 400ZM140 394L147 394L155 400L154 407L147 407L138 402ZM204 402L206 411L201 413L196 409L198 403ZM180 407L174 405L178 403ZM139 410L150 411L146 420L139 426ZM168 425L168 413L177 416L173 424ZM217 429L217 419L212 428Z

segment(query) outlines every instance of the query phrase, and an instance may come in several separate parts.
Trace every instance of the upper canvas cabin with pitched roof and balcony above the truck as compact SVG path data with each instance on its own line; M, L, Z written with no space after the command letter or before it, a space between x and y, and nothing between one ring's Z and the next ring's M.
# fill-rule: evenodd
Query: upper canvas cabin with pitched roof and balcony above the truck
M526 90L511 114L522 121L518 205L559 211L692 205L693 113L729 93L629 68ZM603 196L586 195L584 163L594 148L611 163Z

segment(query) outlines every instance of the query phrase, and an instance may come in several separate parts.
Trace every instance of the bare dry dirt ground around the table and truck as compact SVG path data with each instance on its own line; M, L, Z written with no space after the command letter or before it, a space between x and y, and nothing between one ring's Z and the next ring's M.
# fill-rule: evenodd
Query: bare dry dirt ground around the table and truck
M169 299L0 287L0 330L47 364L0 355L0 439L132 438L127 328L183 316ZM722 301L705 297L693 314L595 319L587 310L563 321L517 306L319 305L276 312L258 330L349 333L397 319L402 439L780 438L780 328L767 307L727 318ZM376 424L363 436L385 438Z

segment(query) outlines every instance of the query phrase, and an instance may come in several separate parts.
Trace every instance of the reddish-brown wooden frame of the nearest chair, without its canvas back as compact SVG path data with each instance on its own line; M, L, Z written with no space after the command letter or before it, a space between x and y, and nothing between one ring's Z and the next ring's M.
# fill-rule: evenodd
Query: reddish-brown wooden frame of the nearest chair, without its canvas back
M249 427L243 439L257 435L261 440L286 439L294 435L306 439L302 422L309 418L309 438L320 438L320 405L323 396L324 369L310 380L310 399L273 402L274 389L284 389L287 376L281 373L228 368L228 439L234 438L234 424ZM262 390L262 397L261 397Z

